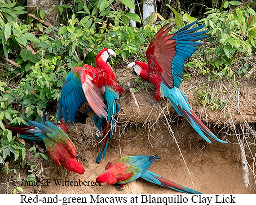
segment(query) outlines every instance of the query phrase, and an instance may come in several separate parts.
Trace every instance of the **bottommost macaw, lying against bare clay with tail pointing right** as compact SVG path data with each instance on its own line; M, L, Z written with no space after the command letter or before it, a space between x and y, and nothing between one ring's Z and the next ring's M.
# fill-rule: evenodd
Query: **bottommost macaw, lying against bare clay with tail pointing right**
M178 192L201 194L201 192L183 187L149 171L148 168L156 159L159 159L158 155L129 156L111 161L105 168L107 171L99 175L96 181L100 182L101 185L114 185L120 191L125 184L141 177L151 183L171 188Z

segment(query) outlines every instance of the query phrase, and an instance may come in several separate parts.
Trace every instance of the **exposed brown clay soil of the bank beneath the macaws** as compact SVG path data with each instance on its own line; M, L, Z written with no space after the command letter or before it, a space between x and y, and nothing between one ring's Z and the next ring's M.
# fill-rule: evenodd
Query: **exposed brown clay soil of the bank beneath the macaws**
M131 74L121 74L119 79L124 82L123 87L127 86L129 81L133 82L134 76ZM128 77L128 78L127 78ZM125 80L130 79L130 80ZM192 81L193 82L193 79ZM199 104L198 97L193 94L198 87L202 85L201 80L191 83L186 81L182 83L181 91L185 92L191 107L199 118L215 133L219 138L229 141L229 144L221 144L213 141L211 144L206 143L193 128L177 115L168 100L162 100L160 103L151 105L150 101L154 100L154 90L148 87L136 92L135 96L138 101L140 111L134 103L130 92L121 94L119 105L120 112L117 119L116 132L112 135L107 149L106 157L100 164L95 162L97 154L100 151L101 144L99 138L95 138L95 127L92 121L93 114L89 113L86 124L76 123L69 124L69 136L77 148L77 159L84 166L85 173L82 175L68 172L63 167L56 166L50 159L48 153L45 153L49 160L36 158L34 154L28 152L33 145L29 142L27 146L27 160L37 166L37 179L46 183L46 179L51 179L50 186L22 186L24 193L178 193L168 188L163 188L155 184L138 179L124 186L122 192L117 191L114 187L105 185L91 188L89 186L55 186L53 179L63 179L70 181L94 181L99 174L104 172L104 168L109 161L119 157L132 155L155 155L158 154L161 159L156 160L151 166L150 171L161 175L173 182L179 183L185 187L193 188L189 172L177 148L177 144L169 133L168 124L174 131L178 144L180 146L185 162L190 170L194 189L203 193L255 193L255 183L250 175L249 187L246 189L243 182L243 173L240 161L240 149L237 138L232 135L232 122L235 125L243 123L241 113L247 122L253 125L256 122L256 82L244 82L244 87L240 92L234 92L234 95L223 95L223 100L229 97L229 103L223 110L212 111L209 106L202 108ZM195 82L195 80L194 80ZM192 87L192 88L191 88ZM225 93L232 94L232 85L226 83L216 84L216 89L225 90ZM230 97L231 96L231 97ZM239 96L238 113L237 96ZM166 121L163 113L168 118ZM232 113L227 117L226 113ZM144 124L144 122L146 122ZM143 126L144 124L144 126ZM214 126L215 125L215 126ZM229 126L228 126L229 125ZM226 135L230 133L231 135ZM211 139L212 140L212 139ZM38 143L37 143L38 144ZM43 144L39 144L44 149ZM252 150L255 153L255 150ZM250 159L247 159L252 163ZM20 179L26 179L28 166L20 167ZM1 183L11 181L10 175L0 176ZM2 182L3 181L3 182ZM20 185L20 184L19 184ZM0 184L0 192L11 192L13 186L11 183Z

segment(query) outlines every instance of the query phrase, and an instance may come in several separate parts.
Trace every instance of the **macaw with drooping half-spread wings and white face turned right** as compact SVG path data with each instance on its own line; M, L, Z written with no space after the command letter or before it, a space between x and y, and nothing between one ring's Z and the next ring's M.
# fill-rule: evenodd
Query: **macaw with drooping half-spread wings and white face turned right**
M59 102L59 118L63 111L65 119L64 113L67 111L69 118L74 122L76 111L83 102L88 102L96 114L94 122L98 129L101 129L103 119L105 119L104 140L96 159L97 163L105 157L108 141L114 130L113 116L119 112L116 100L119 99L119 93L124 92L124 89L116 82L110 65L107 64L110 61L109 55L115 57L115 52L105 48L95 58L96 68L87 64L83 67L75 67L66 78Z

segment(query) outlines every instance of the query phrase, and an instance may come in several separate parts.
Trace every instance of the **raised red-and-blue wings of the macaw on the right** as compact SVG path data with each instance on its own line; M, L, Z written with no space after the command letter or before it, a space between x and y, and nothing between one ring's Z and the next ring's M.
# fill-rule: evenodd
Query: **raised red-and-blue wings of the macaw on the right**
M203 45L195 41L207 37L203 35L207 31L193 33L203 28L204 25L187 30L196 22L170 35L167 33L171 28L167 28L167 25L163 26L154 36L146 51L150 74L159 73L163 83L170 89L174 86L180 87L185 59L191 57L197 46Z

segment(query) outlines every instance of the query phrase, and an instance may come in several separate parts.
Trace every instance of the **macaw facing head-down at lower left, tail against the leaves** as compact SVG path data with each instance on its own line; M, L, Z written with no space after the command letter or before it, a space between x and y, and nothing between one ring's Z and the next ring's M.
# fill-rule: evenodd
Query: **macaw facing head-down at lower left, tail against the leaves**
M61 126L46 121L43 112L43 124L29 121L30 126L5 126L16 133L21 133L22 138L30 140L43 140L45 147L58 166L64 166L69 171L84 174L84 167L75 159L75 145L66 134L66 124L62 121Z

